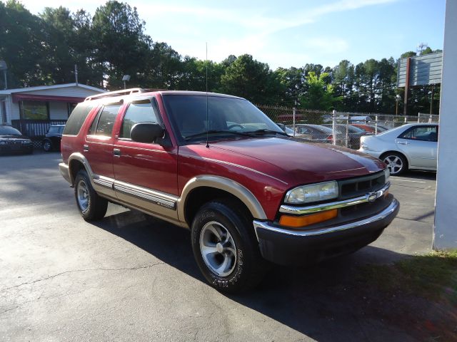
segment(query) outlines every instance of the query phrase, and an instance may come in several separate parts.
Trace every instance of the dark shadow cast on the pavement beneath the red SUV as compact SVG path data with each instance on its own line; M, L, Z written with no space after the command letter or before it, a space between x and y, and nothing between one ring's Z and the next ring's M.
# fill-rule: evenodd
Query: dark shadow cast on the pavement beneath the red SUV
M136 211L111 215L96 226L205 283L186 229ZM366 291L363 281L355 281L359 266L401 257L368 246L306 268L273 265L256 289L225 296L317 341L413 341L406 333L408 324L388 317L395 301Z

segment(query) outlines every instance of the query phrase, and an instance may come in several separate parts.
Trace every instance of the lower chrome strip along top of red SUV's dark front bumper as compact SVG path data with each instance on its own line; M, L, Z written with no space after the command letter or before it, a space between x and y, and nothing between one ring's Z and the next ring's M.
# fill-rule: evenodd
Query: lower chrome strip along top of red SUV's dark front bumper
M382 212L380 212L376 215L373 215L372 217L368 217L367 219L362 219L362 220L356 221L356 222L341 224L341 225L335 226L335 227L318 228L318 229L311 229L311 230L283 229L283 228L279 228L279 227L274 227L269 222L262 222L262 221L257 221L257 220L253 221L253 225L254 225L254 229L256 230L257 238L258 238L257 229L259 229L259 228L268 229L273 232L278 232L278 233L282 233L282 234L293 235L296 237L312 237L315 235L341 232L343 230L353 229L353 228L364 226L366 224L374 223L376 221L380 221L381 219L385 219L389 215L396 212L397 208L398 208L398 201L396 199L393 199L392 203L389 204L389 206L386 207L386 209L384 209Z

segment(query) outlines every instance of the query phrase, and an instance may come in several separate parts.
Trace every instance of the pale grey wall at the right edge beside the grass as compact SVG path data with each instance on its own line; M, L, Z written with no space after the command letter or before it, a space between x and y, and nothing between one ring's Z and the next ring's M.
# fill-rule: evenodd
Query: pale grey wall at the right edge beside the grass
M457 248L457 1L446 1L433 249Z

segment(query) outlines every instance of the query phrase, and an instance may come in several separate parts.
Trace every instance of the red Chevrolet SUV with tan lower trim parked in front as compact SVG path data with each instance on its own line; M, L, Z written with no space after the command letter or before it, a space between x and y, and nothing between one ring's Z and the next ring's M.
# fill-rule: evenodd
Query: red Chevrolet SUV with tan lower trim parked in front
M236 292L268 261L303 264L356 251L398 212L380 160L292 138L248 100L121 90L76 106L61 174L87 221L108 202L191 229L209 283Z

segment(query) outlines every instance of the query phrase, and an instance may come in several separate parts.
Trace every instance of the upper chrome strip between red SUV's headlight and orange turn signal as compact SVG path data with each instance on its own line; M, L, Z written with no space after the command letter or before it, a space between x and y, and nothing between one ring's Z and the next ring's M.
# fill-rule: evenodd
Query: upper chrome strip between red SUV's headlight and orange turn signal
M374 202L374 201L376 201L376 199L383 196L389 187L391 187L391 182L387 182L386 185L384 185L384 187L378 191L368 192L368 194L360 196L360 197L345 199L343 201L338 201L338 202L309 205L307 207L293 207L291 205L283 204L279 208L279 212L282 212L283 214L303 215L303 214L312 214L314 212L323 212L325 210L349 207L351 205L356 205L356 204L361 204L361 203L366 203L366 202Z

